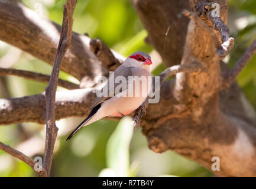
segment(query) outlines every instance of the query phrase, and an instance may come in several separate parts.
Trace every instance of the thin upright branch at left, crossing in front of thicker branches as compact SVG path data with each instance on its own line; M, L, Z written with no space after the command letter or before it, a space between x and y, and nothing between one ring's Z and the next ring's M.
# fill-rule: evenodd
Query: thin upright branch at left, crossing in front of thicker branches
M73 12L76 6L76 0L67 0L67 4L63 9L63 22L59 47L57 48L56 57L51 72L50 82L46 87L46 145L44 149L43 166L47 170L48 177L50 176L51 163L53 161L53 149L57 137L58 128L55 124L55 99L57 83L59 79L60 66L64 58L64 54L70 47L72 38Z

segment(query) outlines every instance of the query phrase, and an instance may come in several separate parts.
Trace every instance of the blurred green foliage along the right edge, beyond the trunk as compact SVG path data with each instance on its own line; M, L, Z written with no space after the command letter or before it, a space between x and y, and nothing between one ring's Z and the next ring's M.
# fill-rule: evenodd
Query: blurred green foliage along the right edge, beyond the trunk
M246 48L256 38L256 1L229 1L228 27L235 38L235 47L229 56L229 67L233 67ZM238 84L241 86L249 102L256 109L256 55L247 67L239 74Z

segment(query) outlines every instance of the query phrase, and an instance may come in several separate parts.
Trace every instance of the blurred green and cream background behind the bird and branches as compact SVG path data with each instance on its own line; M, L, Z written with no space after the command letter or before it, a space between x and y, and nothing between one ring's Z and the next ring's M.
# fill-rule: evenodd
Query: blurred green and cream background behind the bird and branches
M66 0L22 0L29 8L58 24L63 18ZM143 29L129 0L78 0L74 11L73 30L89 37L99 37L118 53L128 56L142 50L152 53L153 48L144 43L147 32ZM186 19L186 18L184 18ZM230 0L228 27L235 38L235 47L225 59L234 66L245 49L256 37L256 1ZM51 74L51 66L11 45L0 41L0 67L12 67ZM164 70L159 64L154 74ZM238 83L249 102L256 109L256 56L239 74ZM61 71L60 78L78 83ZM46 84L20 77L0 77L0 97L21 97L44 92ZM66 90L58 87L57 90ZM141 129L133 131L129 119L119 124L100 120L81 129L71 141L69 132L83 118L68 118L56 122L59 133L54 151L53 177L212 177L205 168L174 152L156 154L150 151ZM124 126L128 125L128 126ZM21 123L0 126L0 141L28 155L43 157L45 125ZM117 166L118 165L118 166ZM0 151L0 177L37 177L27 164Z

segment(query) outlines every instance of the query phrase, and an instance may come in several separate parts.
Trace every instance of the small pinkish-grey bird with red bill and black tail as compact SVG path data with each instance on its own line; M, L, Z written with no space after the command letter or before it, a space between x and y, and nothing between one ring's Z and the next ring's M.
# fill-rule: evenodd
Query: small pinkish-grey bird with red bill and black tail
M110 76L108 82L106 82L105 86L101 89L101 92L108 91L107 95L96 97L90 107L91 112L88 117L74 129L66 141L72 138L80 128L96 120L106 116L122 117L136 110L150 93L152 84L150 74L151 64L151 57L147 53L142 51L132 53L124 63L114 71L114 80L111 81ZM125 78L127 82L122 82L121 84L120 82L115 82L116 79L118 80L120 78ZM111 82L115 83L111 85ZM135 84L136 82L139 82L139 84Z

